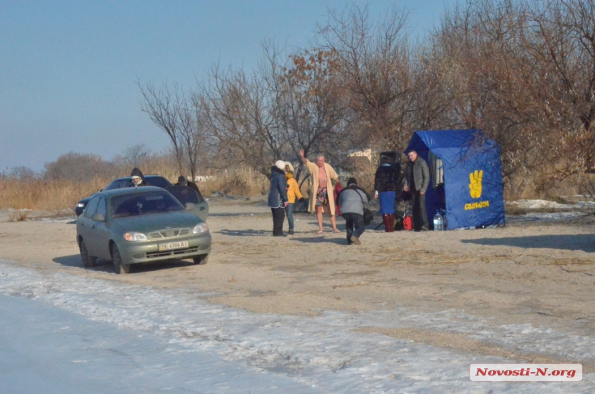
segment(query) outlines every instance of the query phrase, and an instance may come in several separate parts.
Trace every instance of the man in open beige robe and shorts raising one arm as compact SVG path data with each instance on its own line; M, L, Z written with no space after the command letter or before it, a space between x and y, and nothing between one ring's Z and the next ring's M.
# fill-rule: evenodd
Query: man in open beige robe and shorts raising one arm
M333 196L332 182L338 182L339 176L331 165L324 163L324 156L318 155L316 163L312 163L304 156L304 150L300 150L300 159L312 175L310 188L310 205L308 210L316 212L318 219L318 233L322 233L322 213L326 212L331 216L333 233L339 233L335 216L335 198Z

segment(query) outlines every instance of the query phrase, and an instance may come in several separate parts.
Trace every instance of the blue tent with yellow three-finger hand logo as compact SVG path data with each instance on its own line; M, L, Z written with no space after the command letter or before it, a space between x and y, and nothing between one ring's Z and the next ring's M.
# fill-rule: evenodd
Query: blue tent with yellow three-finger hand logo
M504 224L500 147L481 130L414 132L407 151L428 165L430 152L443 161L443 186L426 192L428 220L446 208L448 229Z

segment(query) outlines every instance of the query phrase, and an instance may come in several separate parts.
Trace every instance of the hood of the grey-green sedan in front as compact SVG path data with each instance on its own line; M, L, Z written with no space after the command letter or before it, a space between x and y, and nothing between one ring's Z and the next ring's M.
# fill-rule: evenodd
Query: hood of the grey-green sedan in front
M119 230L122 233L127 231L150 233L167 228L181 229L187 227L192 229L199 223L203 223L200 217L186 211L151 213L149 215L120 217L111 220L113 230Z

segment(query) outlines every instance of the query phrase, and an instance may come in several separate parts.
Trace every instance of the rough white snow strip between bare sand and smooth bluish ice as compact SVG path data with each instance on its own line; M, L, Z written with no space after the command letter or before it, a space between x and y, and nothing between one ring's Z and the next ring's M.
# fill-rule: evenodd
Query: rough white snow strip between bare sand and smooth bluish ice
M315 317L254 314L206 303L200 294L181 289L152 289L61 272L37 272L11 266L6 260L0 260L0 294L48 303L97 324L129 330L134 335L128 341L156 337L174 347L168 362L182 355L187 357L190 368L205 355L225 361L215 370L194 368L199 382L241 365L259 371L271 382L280 377L289 379L287 382L300 387L292 391L295 393L429 393L452 392L453 388L457 393L544 391L542 384L470 382L469 364L504 359L358 332L369 326L452 332L510 350L565 356L576 362L595 359L592 337L531 325L494 326L457 310L327 311ZM0 330L2 324L0 321ZM77 325L69 322L60 327L67 329L64 334L77 330ZM145 362L167 368L162 353L142 349L138 346L137 351L143 352ZM79 365L89 358L71 359ZM218 386L217 393L248 393L245 385L251 384L250 379L237 377L233 387ZM174 383L160 382L161 387L175 387ZM238 391L238 387L245 389ZM547 384L549 393L588 393L594 388L591 374L585 374L583 382Z

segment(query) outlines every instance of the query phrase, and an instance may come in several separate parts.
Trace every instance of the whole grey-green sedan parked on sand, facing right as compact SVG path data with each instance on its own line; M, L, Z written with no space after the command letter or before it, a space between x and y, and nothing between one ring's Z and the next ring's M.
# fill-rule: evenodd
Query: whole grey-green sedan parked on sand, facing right
M77 218L77 242L84 267L112 260L116 274L143 262L192 258L205 264L211 250L207 224L167 190L152 186L107 190L93 195Z

